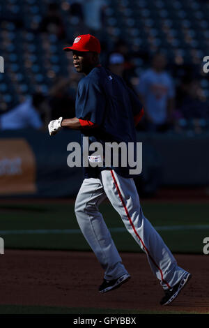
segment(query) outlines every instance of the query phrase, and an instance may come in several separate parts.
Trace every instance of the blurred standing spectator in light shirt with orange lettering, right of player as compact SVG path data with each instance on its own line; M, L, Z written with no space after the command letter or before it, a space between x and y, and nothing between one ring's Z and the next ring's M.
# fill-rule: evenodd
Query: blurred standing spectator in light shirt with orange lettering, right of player
M142 73L137 86L148 131L167 131L173 118L175 90L171 76L165 71L166 64L164 54L155 54L152 67Z

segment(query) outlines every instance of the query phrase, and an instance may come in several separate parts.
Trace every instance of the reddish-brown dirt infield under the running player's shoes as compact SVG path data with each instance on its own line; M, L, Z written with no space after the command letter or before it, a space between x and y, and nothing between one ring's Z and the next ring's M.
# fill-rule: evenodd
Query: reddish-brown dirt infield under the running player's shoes
M170 306L160 306L162 288L145 254L121 253L132 278L107 294L98 293L102 269L93 253L6 250L0 255L0 304L209 312L209 255L176 255L192 274Z

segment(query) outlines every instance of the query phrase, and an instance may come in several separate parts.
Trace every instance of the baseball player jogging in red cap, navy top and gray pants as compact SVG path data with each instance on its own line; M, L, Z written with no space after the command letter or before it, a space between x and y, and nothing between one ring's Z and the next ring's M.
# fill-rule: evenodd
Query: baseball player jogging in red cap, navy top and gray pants
M84 78L77 89L76 117L51 121L49 134L54 135L61 128L72 128L81 131L82 140L88 137L89 144L137 144L134 126L141 119L143 107L121 77L101 66L99 40L90 34L77 36L72 47L63 50L72 51L75 70L84 73ZM120 214L127 231L146 253L150 268L162 285L164 297L160 304L170 304L191 274L178 267L171 251L144 216L129 165L114 166L111 162L106 167L105 154L88 158L93 163L84 167L84 181L75 201L75 214L86 241L104 269L99 292L114 290L130 279L98 209L107 197ZM101 161L102 165L95 165Z

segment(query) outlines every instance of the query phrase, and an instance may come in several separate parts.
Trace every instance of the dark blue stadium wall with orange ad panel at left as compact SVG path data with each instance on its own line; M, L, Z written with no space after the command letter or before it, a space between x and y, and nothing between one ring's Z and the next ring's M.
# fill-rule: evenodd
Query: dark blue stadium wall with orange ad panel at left
M209 135L137 133L143 143L139 184L159 186L209 184ZM68 167L69 142L80 142L77 131L50 137L34 130L1 131L0 196L75 197L82 184L82 167Z

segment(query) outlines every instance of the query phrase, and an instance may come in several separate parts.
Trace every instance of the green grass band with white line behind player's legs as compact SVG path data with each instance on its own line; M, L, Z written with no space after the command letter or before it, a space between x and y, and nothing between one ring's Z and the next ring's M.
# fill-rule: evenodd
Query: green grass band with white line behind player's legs
M207 203L157 203L142 202L145 216L154 226L163 225L209 225ZM100 211L109 228L124 227L121 218L110 204L102 204ZM0 205L0 230L51 230L77 229L74 204L27 203ZM119 251L140 251L139 246L127 232L111 232ZM203 239L209 237L209 229L167 230L160 235L171 251L176 253L203 253ZM39 248L90 250L83 235L77 234L1 234L5 248Z

